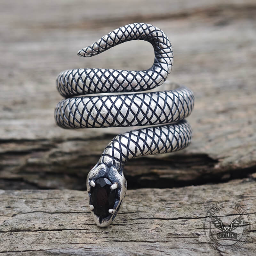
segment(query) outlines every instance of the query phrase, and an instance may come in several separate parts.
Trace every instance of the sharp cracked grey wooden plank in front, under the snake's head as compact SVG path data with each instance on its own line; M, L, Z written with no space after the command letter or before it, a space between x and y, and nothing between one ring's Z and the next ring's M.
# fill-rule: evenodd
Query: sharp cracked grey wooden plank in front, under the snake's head
M0 255L255 255L255 181L128 190L115 222L97 227L87 194L75 190L0 190ZM244 205L252 223L236 252L208 244L203 221L222 200Z

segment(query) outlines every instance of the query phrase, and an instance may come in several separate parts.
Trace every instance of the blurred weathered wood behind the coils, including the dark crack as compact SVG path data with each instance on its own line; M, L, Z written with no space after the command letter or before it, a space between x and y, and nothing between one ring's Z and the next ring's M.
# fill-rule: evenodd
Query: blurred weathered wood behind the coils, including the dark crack
M195 109L188 118L194 140L175 155L131 161L125 167L130 186L203 184L254 172L256 4L206 2L165 1L155 8L152 1L142 8L143 3L134 1L128 8L128 2L113 1L81 8L79 1L22 1L16 7L4 1L0 18L0 187L84 188L87 172L113 133L121 129L68 131L57 127L53 110L61 96L55 77L61 70L84 66L150 67L153 49L141 41L93 58L76 56L81 47L140 17L162 28L171 39L174 67L168 81L185 84L195 92Z

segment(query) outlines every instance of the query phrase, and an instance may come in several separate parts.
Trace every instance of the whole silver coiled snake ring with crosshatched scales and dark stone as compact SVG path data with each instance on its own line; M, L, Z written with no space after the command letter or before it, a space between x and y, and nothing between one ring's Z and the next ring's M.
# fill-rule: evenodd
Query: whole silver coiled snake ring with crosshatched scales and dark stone
M79 68L62 71L57 77L57 88L66 98L55 109L55 120L60 127L155 125L117 135L88 173L89 209L100 227L111 224L124 200L127 182L123 169L129 159L177 151L187 147L192 139L191 127L184 120L194 106L194 96L188 88L136 93L163 84L171 72L172 45L161 29L132 23L113 30L77 54L91 57L137 39L154 47L154 64L147 70ZM74 97L104 92L131 93Z

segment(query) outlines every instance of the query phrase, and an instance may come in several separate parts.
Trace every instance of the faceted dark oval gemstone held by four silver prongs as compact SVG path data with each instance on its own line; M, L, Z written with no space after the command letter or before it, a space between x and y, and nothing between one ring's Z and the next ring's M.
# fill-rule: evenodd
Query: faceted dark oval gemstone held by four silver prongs
M100 219L109 215L108 209L113 209L116 200L116 191L111 190L111 181L107 178L94 180L96 186L91 189L91 204L94 206L93 212Z

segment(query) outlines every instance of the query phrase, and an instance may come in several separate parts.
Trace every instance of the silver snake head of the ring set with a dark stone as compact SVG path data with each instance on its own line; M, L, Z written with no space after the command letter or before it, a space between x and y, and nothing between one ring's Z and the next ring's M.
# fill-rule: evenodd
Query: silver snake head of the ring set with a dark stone
M114 165L96 164L87 175L89 209L99 227L107 227L124 200L127 182L123 171Z

